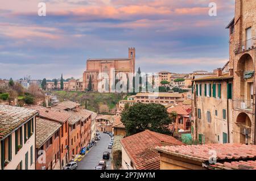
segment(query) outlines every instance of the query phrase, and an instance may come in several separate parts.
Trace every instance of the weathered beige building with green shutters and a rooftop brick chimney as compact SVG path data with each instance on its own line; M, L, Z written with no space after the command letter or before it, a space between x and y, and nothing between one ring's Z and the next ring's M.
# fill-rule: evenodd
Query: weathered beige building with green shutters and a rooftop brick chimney
M233 142L233 75L193 79L191 134L202 144Z

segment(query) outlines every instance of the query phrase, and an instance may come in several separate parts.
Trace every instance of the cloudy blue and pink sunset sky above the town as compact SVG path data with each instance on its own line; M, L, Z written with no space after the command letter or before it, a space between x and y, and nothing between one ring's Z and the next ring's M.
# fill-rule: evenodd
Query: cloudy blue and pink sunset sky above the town
M0 78L80 78L88 58L125 58L129 47L145 73L211 71L229 60L233 16L234 0L1 1Z

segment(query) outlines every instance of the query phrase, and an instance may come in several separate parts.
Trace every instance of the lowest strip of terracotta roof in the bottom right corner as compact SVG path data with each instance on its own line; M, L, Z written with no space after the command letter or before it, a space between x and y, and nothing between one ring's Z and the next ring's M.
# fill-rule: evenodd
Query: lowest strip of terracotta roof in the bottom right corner
M210 165L216 170L256 170L256 161L224 162Z

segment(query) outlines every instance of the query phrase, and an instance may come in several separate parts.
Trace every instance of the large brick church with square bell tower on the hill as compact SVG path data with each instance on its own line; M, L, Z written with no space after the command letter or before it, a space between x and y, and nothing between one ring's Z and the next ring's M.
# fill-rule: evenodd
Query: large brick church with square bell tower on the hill
M135 73L135 48L129 48L128 58L94 58L88 59L86 62L86 70L83 74L82 87L83 90L88 88L89 77L92 77L92 89L98 91L98 82L102 81L98 78L99 73L110 74L110 69L115 69L117 73Z

